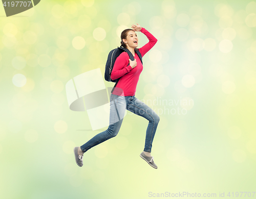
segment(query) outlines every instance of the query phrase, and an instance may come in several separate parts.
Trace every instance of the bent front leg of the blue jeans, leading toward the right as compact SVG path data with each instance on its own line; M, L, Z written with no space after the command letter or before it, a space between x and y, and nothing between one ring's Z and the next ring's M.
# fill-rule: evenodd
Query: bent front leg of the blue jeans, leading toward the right
M151 152L153 139L157 130L158 122L160 121L160 117L155 113L155 111L141 102L135 96L131 99L131 102L126 108L127 110L135 113L136 115L144 117L149 121L146 129L144 152Z

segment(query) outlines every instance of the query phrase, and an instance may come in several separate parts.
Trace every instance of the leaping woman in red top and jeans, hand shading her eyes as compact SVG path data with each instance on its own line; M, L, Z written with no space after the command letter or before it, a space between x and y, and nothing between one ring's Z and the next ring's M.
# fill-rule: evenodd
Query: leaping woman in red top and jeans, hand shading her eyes
M140 58L135 51L139 51L143 57L156 44L157 39L146 29L140 27L138 23L136 24L137 25L133 24L131 27L132 29L125 29L121 33L121 46L129 49L135 59L132 61L129 55L126 52L123 52L117 57L113 66L111 79L120 79L110 95L109 128L95 135L80 147L74 147L75 160L80 167L83 165L82 160L85 152L93 146L113 138L118 134L126 109L149 121L146 129L145 146L140 157L153 168L157 168L157 165L154 163L154 158L151 156L151 148L160 118L150 107L135 97L137 83L143 69ZM143 33L149 40L147 44L138 49L138 37L136 31Z

